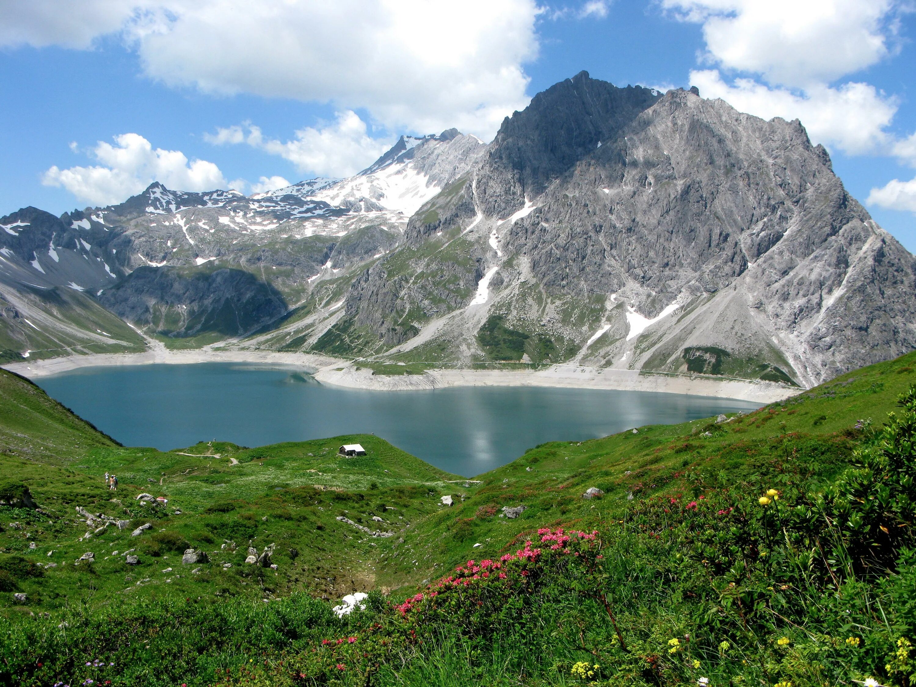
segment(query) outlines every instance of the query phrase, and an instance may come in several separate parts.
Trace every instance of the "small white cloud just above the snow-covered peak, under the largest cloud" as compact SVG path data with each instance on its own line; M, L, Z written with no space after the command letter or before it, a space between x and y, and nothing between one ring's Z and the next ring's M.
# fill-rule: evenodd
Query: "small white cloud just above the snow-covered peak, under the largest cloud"
M368 167L394 144L368 135L365 122L352 110L322 127L299 129L289 141L267 138L256 125L234 125L205 134L216 145L245 143L292 162L301 172L322 177L349 177ZM287 184L289 185L289 184Z

